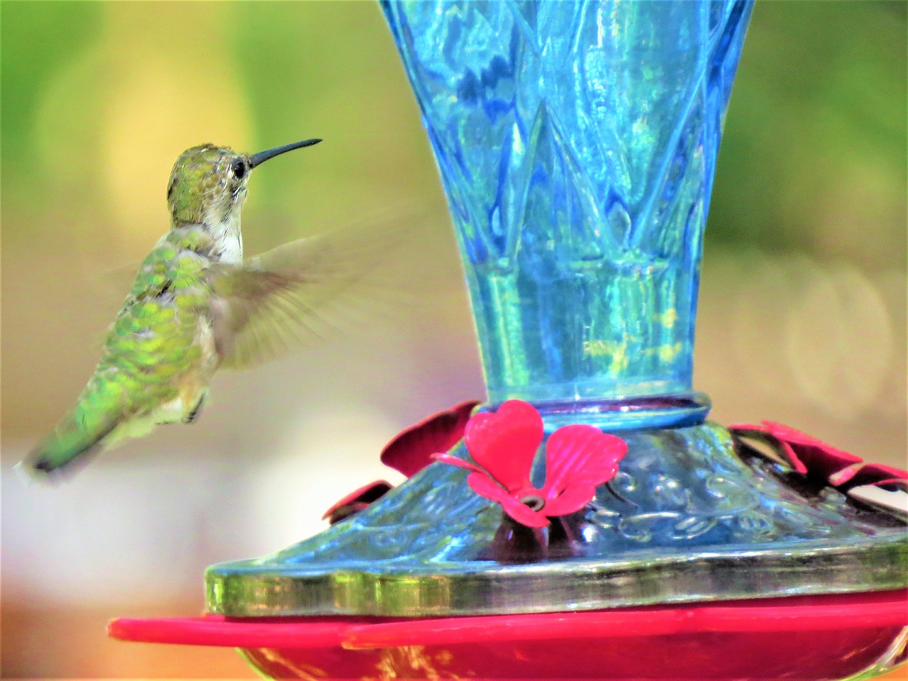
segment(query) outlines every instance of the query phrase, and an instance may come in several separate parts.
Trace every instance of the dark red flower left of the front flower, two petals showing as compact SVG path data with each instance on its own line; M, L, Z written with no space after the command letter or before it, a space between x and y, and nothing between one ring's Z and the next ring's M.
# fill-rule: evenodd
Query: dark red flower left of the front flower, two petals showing
M416 475L432 462L432 454L451 449L463 438L470 412L478 404L479 400L460 402L449 410L439 411L401 430L381 450L381 463L407 478ZM394 489L393 486L386 480L370 482L335 503L322 518L328 518L333 525L360 512L391 489Z

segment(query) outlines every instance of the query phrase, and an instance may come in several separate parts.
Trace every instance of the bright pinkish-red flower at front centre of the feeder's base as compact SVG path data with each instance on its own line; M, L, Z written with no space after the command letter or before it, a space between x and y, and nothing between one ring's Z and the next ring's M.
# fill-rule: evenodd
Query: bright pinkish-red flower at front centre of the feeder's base
M470 489L498 501L508 516L530 528L544 528L548 518L585 507L596 496L597 485L615 477L617 463L627 453L627 442L595 426L564 426L548 438L546 483L537 489L529 475L543 430L542 417L532 405L508 400L497 413L476 414L464 437L479 466L449 454L434 459L472 471Z

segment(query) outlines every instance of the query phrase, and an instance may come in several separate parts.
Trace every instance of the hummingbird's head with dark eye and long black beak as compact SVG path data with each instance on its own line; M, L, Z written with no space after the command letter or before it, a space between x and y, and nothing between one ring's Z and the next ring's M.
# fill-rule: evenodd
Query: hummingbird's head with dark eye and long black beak
M173 163L167 184L167 207L173 222L217 225L231 220L246 200L252 168L281 153L320 142L303 140L252 155L210 143L187 149Z

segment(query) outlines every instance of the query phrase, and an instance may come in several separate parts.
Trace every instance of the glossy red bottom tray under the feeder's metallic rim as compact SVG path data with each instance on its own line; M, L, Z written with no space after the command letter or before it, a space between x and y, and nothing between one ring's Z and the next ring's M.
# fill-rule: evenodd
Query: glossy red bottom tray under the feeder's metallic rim
M903 662L908 590L538 615L114 619L125 641L242 648L276 678L839 679Z

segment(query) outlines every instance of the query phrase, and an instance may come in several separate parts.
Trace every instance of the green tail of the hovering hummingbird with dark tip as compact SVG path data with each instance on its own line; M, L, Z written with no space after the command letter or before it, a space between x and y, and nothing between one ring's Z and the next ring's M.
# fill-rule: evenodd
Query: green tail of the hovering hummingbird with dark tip
M104 449L104 439L117 427L117 419L88 414L81 405L70 411L16 468L33 478L46 479L78 463L87 462Z

